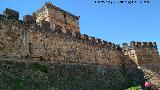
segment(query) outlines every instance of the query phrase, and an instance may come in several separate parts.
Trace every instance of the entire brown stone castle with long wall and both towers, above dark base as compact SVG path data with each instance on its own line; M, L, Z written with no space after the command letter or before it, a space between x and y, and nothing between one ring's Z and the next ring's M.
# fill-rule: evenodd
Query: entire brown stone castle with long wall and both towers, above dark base
M80 33L79 16L46 3L19 20L19 13L0 14L0 57L38 58L58 63L122 66L125 59L136 64L159 60L156 42L112 42Z

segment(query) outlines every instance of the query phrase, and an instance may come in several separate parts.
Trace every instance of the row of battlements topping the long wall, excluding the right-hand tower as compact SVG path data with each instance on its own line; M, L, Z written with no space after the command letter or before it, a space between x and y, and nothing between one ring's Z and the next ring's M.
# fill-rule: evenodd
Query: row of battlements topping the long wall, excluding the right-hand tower
M12 16L12 13L17 12L15 10L8 9L8 8L7 8L7 10L10 11L10 13L8 13L7 16ZM6 14L5 15L0 15L0 17L3 17L3 18L7 18L7 16L6 16ZM8 19L13 19L13 18L16 18L16 17L17 16L13 15L12 18L8 18ZM17 19L15 19L15 20L17 20ZM51 29L50 28L50 23L48 21L42 20L41 22L36 23L36 18L34 17L34 15L25 15L23 17L23 21L21 21L21 22L23 22L23 24L25 26L26 25L30 25L31 26L32 24L34 24L34 26L35 26L35 24L37 25L36 27L32 27L32 28L42 27L42 28L46 28L46 29ZM48 32L50 32L50 31L48 31ZM58 29L58 30L56 30L54 32L56 32L58 35L61 35L61 33L66 34L66 35L68 35L68 36L70 36L72 38L76 38L78 40L85 41L86 44L89 44L89 45L92 45L92 46L98 46L98 47L103 47L103 48L106 47L106 48L110 48L110 49L119 48L118 50L121 50L121 47L117 46L114 43L107 42L105 40L101 40L99 38L95 38L93 36L89 36L87 34L81 34L80 32L72 32L70 30L66 30L66 32L62 32L61 29ZM53 33L53 32L51 32L51 33Z

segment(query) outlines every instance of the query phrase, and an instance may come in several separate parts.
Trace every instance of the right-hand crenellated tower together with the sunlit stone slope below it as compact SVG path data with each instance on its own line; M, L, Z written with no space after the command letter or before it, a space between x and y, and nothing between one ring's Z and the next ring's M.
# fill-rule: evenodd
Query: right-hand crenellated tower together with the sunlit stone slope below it
M160 87L160 58L155 42L132 41L130 46L123 46L123 52L127 56L125 59L139 65L138 68L143 71L145 80L153 84L154 90Z

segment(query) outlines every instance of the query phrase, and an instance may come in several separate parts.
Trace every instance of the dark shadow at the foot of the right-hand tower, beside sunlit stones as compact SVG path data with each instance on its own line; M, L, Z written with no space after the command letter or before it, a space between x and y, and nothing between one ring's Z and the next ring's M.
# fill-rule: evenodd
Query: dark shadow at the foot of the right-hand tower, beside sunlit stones
M122 75L125 78L125 89L142 86L144 88L144 73L137 68L138 65L131 59L124 59L122 64Z

